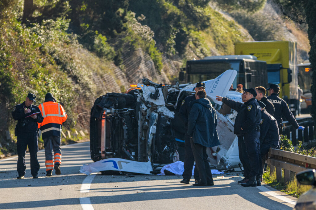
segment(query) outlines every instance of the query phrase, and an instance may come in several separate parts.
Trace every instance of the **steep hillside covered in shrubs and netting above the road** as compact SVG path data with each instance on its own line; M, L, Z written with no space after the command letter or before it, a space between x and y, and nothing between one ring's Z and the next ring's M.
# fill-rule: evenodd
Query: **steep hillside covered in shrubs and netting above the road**
M269 1L255 13L199 0L36 0L28 12L25 2L0 1L0 154L15 150L11 112L27 92L37 105L52 92L64 128L87 129L98 96L143 78L174 84L185 61L233 54L235 42L293 40L300 60L309 50L306 29Z

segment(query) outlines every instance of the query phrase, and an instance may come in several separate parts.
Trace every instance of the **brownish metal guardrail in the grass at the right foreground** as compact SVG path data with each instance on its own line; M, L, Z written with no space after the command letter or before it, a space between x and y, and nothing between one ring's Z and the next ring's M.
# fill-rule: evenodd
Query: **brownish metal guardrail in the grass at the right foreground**
M284 181L289 182L291 172L301 172L307 169L316 169L316 158L288 152L280 149L270 148L267 164L270 165L270 173L276 170L276 180L282 179L282 168L284 169Z

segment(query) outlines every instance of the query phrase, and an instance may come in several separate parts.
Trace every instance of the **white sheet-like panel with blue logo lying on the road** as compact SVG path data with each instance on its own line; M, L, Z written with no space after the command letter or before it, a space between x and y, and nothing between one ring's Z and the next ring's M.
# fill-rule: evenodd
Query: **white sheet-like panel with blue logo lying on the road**
M150 172L152 170L151 162L137 162L121 158L107 158L80 167L80 172L87 175L100 171L124 171L151 174Z

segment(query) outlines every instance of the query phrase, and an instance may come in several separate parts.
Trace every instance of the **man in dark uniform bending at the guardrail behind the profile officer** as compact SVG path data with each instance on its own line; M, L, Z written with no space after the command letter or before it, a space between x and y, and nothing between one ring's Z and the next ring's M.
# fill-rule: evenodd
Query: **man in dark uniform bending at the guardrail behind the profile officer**
M268 158L270 148L277 149L280 145L279 127L276 119L269 114L265 109L265 104L258 101L261 107L261 120L260 120L260 152L261 164L260 175L263 174L265 160ZM261 177L260 177L261 179ZM257 180L258 182L258 180Z

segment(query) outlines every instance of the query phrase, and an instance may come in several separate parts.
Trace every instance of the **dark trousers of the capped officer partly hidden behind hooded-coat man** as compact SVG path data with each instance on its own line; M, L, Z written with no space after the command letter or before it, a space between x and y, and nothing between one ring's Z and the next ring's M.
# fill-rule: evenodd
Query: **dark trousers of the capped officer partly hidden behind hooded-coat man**
M185 156L184 156L184 172L182 173L183 179L190 180L192 177L192 169L194 165L194 156L192 153L192 148L191 148L191 142L190 142L190 137L188 135L185 135ZM199 180L198 178L198 172L197 172L197 167L194 167L194 175L193 175L195 180Z

